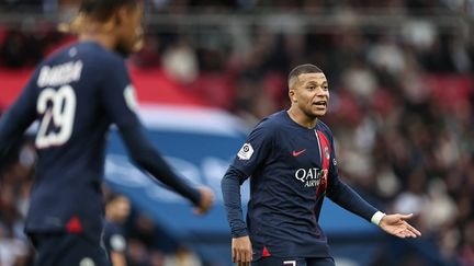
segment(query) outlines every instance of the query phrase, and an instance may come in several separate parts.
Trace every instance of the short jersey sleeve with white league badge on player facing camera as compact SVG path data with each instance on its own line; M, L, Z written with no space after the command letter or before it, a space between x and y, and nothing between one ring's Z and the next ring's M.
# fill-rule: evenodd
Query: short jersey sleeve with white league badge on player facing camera
M256 169L271 155L273 135L267 123L258 125L237 152L233 166L247 176L252 175Z

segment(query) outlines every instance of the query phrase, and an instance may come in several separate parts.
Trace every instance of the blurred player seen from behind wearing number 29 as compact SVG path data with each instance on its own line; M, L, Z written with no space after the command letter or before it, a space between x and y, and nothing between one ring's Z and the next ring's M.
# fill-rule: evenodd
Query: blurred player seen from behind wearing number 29
M110 265L101 248L101 182L109 128L115 124L138 166L204 213L212 192L187 184L154 149L135 114L122 56L143 39L139 0L83 0L72 28L79 42L38 65L0 120L0 164L12 143L38 120L36 181L25 231L35 265Z

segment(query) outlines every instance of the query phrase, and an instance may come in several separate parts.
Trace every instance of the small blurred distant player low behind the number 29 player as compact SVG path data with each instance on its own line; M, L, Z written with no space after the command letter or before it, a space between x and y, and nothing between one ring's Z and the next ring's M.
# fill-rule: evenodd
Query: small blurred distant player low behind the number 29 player
M126 266L126 236L123 223L131 212L128 198L120 194L111 194L105 198L105 224L103 243L112 266Z

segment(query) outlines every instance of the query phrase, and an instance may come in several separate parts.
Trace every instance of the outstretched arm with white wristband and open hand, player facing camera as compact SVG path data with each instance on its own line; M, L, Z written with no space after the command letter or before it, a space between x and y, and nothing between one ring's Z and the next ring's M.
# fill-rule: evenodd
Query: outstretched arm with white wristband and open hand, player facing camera
M328 173L328 188L326 193L328 198L342 208L379 225L390 234L398 238L420 236L421 233L406 221L410 219L413 215L385 215L369 204L356 190L339 178L332 138L330 144L331 157Z

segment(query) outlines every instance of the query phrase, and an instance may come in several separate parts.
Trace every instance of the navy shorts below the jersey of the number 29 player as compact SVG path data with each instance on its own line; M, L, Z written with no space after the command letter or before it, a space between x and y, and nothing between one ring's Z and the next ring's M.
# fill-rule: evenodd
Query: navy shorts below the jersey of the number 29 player
M111 266L100 242L83 234L33 233L34 266Z

